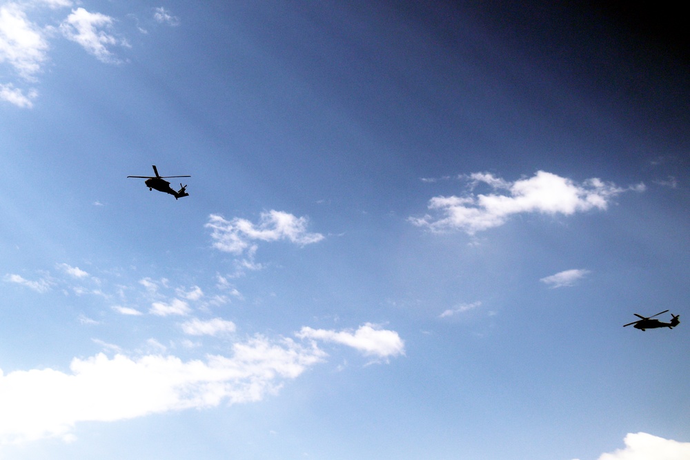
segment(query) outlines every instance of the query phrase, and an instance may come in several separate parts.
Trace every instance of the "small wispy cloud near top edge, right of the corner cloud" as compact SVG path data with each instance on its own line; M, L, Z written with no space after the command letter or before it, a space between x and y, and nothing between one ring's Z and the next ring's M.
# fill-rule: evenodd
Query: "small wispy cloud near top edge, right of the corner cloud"
M108 46L128 46L127 42L108 34L106 30L112 28L113 19L106 14L88 12L83 8L72 10L60 30L64 37L79 43L87 52L93 54L99 61L118 63Z

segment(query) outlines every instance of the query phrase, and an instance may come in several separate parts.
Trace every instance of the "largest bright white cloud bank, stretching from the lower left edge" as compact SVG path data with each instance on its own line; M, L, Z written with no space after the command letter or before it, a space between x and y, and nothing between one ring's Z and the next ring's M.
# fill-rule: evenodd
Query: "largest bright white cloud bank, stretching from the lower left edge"
M73 439L75 423L81 421L260 401L323 357L317 348L290 339L255 337L235 343L230 357L210 355L204 361L97 354L72 359L70 372L0 370L0 442Z

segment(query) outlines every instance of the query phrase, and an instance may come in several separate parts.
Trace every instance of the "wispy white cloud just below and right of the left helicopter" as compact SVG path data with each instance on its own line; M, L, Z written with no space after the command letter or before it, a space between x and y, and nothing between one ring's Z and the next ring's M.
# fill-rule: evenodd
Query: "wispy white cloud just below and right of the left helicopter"
M324 239L320 233L306 231L306 217L295 217L288 212L270 210L262 212L258 224L235 217L227 221L217 214L210 214L207 228L211 228L213 247L224 252L252 254L256 246L253 241L288 240L299 246L317 243Z

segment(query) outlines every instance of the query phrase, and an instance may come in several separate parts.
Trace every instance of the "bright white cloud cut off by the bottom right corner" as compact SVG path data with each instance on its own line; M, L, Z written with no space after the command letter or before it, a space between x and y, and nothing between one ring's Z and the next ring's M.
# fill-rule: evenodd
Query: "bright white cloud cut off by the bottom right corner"
M647 433L628 433L625 448L602 454L598 460L687 460L690 443L664 439Z

